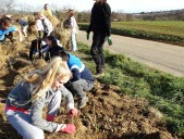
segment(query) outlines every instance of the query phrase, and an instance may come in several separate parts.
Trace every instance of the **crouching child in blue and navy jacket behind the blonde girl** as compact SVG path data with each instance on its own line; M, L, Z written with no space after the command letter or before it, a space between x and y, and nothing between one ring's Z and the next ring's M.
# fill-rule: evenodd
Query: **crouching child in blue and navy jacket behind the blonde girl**
M78 109L83 109L88 101L88 97L84 91L89 91L94 87L94 77L77 56L65 51L60 51L59 55L68 62L73 75L70 81L65 84L65 87L79 97Z

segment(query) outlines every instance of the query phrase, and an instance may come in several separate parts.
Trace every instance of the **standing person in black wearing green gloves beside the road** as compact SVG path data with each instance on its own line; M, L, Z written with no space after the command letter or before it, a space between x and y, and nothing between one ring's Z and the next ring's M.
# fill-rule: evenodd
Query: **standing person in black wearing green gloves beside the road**
M89 33L94 31L90 54L96 63L96 77L105 74L103 43L106 38L109 46L111 41L111 8L107 0L95 0L91 9L90 24L87 29L87 39Z

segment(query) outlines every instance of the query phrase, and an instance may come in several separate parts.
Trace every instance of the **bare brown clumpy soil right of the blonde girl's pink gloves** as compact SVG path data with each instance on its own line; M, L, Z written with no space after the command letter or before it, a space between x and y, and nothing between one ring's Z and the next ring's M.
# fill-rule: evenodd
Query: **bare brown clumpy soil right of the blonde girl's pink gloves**
M167 131L164 121L148 108L144 99L135 99L116 93L116 87L96 81L89 101L79 112L79 117L71 119L77 127L74 136L53 134L47 139L173 139ZM64 114L64 112L62 113ZM58 116L56 122L69 122L66 116Z

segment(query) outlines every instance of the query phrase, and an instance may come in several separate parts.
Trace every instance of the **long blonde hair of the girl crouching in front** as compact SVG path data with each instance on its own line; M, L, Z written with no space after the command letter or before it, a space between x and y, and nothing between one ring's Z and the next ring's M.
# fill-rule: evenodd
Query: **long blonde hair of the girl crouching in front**
M51 87L57 77L62 79L71 76L66 62L63 62L60 56L56 56L42 70L35 70L26 74L23 80L34 86L30 98L30 101L34 102Z

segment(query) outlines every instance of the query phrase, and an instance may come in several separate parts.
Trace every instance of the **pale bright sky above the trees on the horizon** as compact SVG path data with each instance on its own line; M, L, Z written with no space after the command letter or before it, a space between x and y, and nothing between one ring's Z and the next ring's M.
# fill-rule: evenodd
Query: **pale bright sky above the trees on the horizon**
M89 11L94 4L94 0L15 0L16 7L23 8L24 4L29 4L36 8L42 8L45 3L50 5L50 9L70 8L77 11ZM125 13L154 12L167 10L184 9L184 0L107 0L112 11L121 11ZM25 7L26 8L26 7Z

